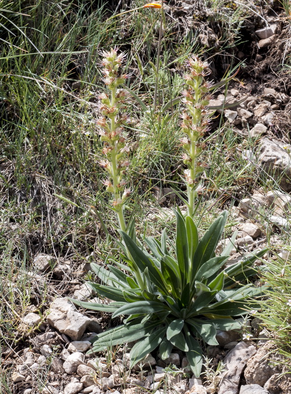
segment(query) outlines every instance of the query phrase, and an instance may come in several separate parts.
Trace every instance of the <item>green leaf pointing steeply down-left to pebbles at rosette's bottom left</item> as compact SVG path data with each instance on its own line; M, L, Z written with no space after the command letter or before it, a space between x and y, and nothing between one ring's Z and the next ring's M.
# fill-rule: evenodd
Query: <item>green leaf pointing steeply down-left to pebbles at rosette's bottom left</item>
M138 361L141 361L147 354L155 350L165 335L165 327L155 329L153 333L138 341L130 352L130 366L132 368Z

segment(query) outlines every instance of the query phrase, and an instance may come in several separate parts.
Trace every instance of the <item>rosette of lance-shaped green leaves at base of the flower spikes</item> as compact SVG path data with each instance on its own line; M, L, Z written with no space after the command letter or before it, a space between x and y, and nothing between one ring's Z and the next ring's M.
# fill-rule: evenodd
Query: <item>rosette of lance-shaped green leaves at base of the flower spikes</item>
M235 317L246 314L248 306L259 308L250 299L261 296L262 289L253 286L248 278L256 275L253 263L265 250L222 269L233 247L230 242L220 256L215 256L227 212L214 221L200 240L192 217L184 218L180 211L175 214L174 243L163 231L161 240L145 238L145 248L120 230L122 258L127 265L115 262L105 269L92 264L102 284L87 284L112 302L71 301L91 310L113 312L112 318L126 316L122 325L93 339L90 353L136 341L130 352L131 367L156 348L166 359L175 347L186 352L198 377L201 344L218 345L217 329L239 329L240 322Z

